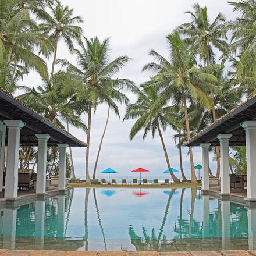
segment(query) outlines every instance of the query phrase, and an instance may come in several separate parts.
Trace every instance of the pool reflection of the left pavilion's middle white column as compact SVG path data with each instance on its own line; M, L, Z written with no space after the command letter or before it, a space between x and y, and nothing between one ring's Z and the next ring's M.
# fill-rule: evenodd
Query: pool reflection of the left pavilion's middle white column
M41 241L41 250L44 249L44 222L45 222L45 201L35 201L35 237Z

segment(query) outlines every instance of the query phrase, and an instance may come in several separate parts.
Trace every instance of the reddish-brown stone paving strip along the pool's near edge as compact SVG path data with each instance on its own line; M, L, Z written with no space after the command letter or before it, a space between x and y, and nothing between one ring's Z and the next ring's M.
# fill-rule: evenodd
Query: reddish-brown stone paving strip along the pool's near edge
M157 252L95 252L95 251L23 251L0 250L1 256L256 256L256 250L236 251L175 251L171 253Z

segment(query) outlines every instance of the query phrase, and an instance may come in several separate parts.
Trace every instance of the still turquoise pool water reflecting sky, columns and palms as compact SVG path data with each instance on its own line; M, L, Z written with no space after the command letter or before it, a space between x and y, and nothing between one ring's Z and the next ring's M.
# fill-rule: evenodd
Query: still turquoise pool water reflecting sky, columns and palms
M81 251L253 249L256 209L197 189L71 189L1 209L0 248Z

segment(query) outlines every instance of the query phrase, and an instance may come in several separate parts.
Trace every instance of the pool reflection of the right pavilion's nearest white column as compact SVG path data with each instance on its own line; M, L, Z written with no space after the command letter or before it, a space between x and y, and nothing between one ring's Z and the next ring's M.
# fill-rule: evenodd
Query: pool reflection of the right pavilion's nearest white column
M248 246L249 250L256 249L256 209L247 209L248 218Z

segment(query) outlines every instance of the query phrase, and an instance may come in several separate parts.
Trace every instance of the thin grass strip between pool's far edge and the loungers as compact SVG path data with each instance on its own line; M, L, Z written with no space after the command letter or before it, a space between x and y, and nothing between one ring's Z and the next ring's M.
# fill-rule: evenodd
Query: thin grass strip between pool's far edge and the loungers
M122 185L122 184L117 184L117 185L86 185L86 184L77 184L77 183L69 183L70 187L123 187L123 188L148 188L148 189L159 189L159 188L166 188L166 187L197 187L200 186L199 183L192 184L190 182L179 182L179 183L172 183L172 184L163 184L163 185L154 185L154 184L149 184L149 185Z

